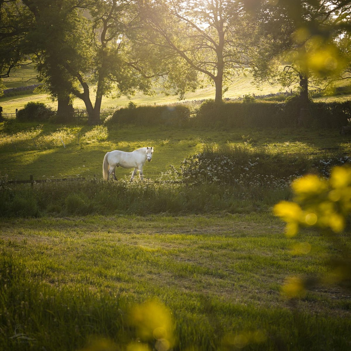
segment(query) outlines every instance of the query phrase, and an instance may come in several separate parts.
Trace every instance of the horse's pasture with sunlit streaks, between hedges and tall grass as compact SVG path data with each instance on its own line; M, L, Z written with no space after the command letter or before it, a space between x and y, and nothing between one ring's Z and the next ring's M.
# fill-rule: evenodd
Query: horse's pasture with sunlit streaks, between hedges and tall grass
M337 130L223 128L213 131L174 130L163 126L108 129L105 126L38 126L6 121L0 124L0 136L1 172L9 174L11 179L29 179L29 174L33 174L34 179L92 177L94 174L101 177L102 160L107 151L133 151L144 146L155 148L152 162L144 169L146 178L153 180L157 180L161 172L170 170L170 164L179 167L186 156L211 143L246 144L247 147L264 147L272 153L302 153L306 157L351 153L350 136L340 136ZM131 174L131 170L118 168L116 173L120 178Z

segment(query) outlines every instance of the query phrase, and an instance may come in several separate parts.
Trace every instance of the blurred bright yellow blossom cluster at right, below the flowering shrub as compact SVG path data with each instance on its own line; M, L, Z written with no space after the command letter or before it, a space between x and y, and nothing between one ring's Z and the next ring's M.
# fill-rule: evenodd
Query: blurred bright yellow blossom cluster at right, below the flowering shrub
M294 237L303 227L317 228L337 252L337 256L327 258L330 270L322 281L351 289L350 247L342 235L351 213L351 167L334 167L329 179L313 174L299 178L292 183L292 190L294 201L281 201L273 208L274 214L286 222L286 235ZM308 253L308 245L300 249ZM283 292L287 297L302 296L301 279L289 279Z

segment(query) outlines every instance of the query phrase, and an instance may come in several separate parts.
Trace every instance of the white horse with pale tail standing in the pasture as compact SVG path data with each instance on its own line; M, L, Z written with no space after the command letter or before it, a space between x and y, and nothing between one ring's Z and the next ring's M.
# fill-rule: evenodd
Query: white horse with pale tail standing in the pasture
M148 160L152 159L153 147L141 147L140 149L134 150L132 152L124 152L119 150L114 150L107 152L104 157L104 163L102 163L102 175L105 180L113 176L114 180L117 180L115 176L116 167L120 166L122 168L133 168L132 177L130 181L133 180L135 173L139 170L139 177L144 180L143 177L143 165Z

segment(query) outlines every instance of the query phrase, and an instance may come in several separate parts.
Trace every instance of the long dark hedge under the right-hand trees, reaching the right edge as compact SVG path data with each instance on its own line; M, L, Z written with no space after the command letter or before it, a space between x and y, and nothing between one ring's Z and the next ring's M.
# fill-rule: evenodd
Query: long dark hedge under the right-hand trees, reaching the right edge
M283 103L274 101L256 102L215 102L205 101L197 116L192 119L194 125L238 127L293 127L299 124L300 102L294 95ZM310 102L304 119L305 127L340 128L347 125L351 118L351 102Z

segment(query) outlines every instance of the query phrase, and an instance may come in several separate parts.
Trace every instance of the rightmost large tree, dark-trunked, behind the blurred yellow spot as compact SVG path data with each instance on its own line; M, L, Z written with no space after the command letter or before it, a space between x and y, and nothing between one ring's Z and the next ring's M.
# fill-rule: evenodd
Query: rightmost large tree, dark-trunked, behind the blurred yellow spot
M303 111L309 102L309 87L330 82L345 66L339 42L350 1L256 0L246 1L246 6L257 19L268 14L262 37L274 38L253 60L256 81L283 86L297 83Z

